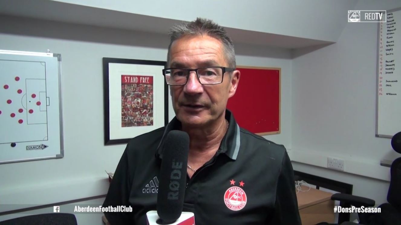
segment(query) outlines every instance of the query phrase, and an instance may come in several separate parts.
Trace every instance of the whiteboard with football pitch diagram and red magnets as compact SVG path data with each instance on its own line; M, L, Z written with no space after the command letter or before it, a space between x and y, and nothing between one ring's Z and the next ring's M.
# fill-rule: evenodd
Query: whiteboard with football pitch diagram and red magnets
M63 157L60 63L0 50L0 163Z

